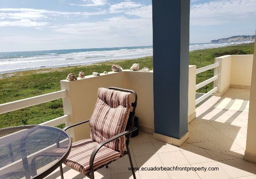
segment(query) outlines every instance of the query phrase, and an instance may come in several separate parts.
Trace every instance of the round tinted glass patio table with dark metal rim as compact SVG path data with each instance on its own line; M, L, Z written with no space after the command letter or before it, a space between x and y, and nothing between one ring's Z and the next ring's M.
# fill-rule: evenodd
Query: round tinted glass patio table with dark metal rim
M0 179L44 178L67 159L70 150L70 136L56 127L0 129Z

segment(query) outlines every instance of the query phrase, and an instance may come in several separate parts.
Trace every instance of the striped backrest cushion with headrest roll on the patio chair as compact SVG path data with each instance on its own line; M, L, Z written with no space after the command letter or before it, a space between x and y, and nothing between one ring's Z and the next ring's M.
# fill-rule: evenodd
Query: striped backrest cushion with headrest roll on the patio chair
M90 118L91 139L98 143L125 131L131 109L131 93L99 88L93 115ZM105 145L119 151L125 150L125 136Z

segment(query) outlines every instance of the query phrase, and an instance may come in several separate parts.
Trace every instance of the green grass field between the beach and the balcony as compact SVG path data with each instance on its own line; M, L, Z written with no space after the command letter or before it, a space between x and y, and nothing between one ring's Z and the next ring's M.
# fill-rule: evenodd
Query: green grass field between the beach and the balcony
M227 54L253 54L253 43L215 49L195 50L189 52L189 64L196 65L197 68L200 68L213 64L215 57ZM71 72L78 74L79 71L83 71L85 75L91 75L92 72L111 71L112 64L119 64L123 69L129 69L134 63L139 63L140 69L145 66L150 69L153 68L153 58L146 57L134 60L103 62L87 66L39 69L0 75L0 104L58 91L60 90L60 80L65 79L67 74ZM212 76L213 69L198 74L197 84ZM207 90L211 88L212 84L209 84ZM201 92L205 92L205 89L202 89ZM40 124L62 115L64 115L62 101L58 99L27 107L22 110L1 114L0 128L23 124ZM26 122L22 121L26 119ZM63 125L61 125L61 127L63 127Z

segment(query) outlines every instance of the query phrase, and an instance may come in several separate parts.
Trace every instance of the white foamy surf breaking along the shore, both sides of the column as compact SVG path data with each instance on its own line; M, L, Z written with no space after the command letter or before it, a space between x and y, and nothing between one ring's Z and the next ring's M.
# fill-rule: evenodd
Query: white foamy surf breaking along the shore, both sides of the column
M220 49L220 48L223 48L223 47L228 47L228 46L239 46L241 44L250 44L251 42L250 41L247 41L247 42L232 42L232 43L201 43L201 44L190 44L189 45L189 53L190 52L194 52L194 51L197 51L197 50L206 50L206 49ZM16 60L13 60L13 59L16 59L14 57L11 58L10 54L9 54L9 57L12 59L8 59L8 58L3 58L1 61L0 61L0 75L4 75L4 74L8 74L8 73L15 73L15 72L22 72L22 71L29 71L29 70L38 70L38 69L50 69L50 68L55 68L55 69L58 69L60 67L68 67L68 66L80 66L80 65L89 65L89 64L97 64L97 63L103 63L103 62L106 62L106 61L119 61L119 60L130 60L130 59L137 59L137 58L143 58L143 57L149 57L153 54L153 49L152 47L150 46L150 52L147 51L145 54L145 52L142 51L142 53L140 54L140 48L141 47L145 47L145 46L138 46L138 52L136 52L135 54L131 53L130 55L131 56L126 56L124 55L122 57L122 54L124 52L122 52L122 50L127 50L127 49L124 49L126 47L120 47L118 48L117 51L119 52L114 52L116 50L113 50L113 54L119 54L119 55L114 55L113 57L111 58L108 58L108 55L107 56L97 56L96 54L96 57L93 56L93 54L87 54L87 52L85 52L87 55L84 54L84 52L81 51L81 56L79 56L78 54L76 53L80 53L79 49L76 49L78 50L78 52L71 52L70 50L72 49L69 49L69 50L66 50L67 52L63 52L63 54L61 52L58 52L56 50L50 50L49 52L55 52L53 55L49 55L49 54L52 54L52 53L49 53L48 54L48 51L47 51L47 54L46 54L46 51L40 51L43 55L39 55L38 53L37 54L33 54L34 52L37 52L37 51L31 51L31 54L32 55L31 57L22 57L24 59L20 59L21 57L17 56L17 61ZM116 47L117 48L117 47ZM127 47L128 48L128 47ZM134 49L135 47L129 47L129 48L132 48ZM108 48L108 49L111 49L111 48ZM128 49L129 51L130 49ZM58 51L61 51L61 50L58 50ZM88 51L89 52L89 51ZM90 51L90 52L94 52L94 51ZM89 53L90 53L89 52ZM104 50L103 51L97 51L98 52L103 52L108 54L109 52L105 52ZM67 53L67 55L65 55ZM74 54L73 54L74 53ZM111 52L112 53L112 52ZM110 53L110 54L111 54ZM127 52L125 52L126 54ZM144 53L144 54L143 54ZM60 56L56 56L56 54L60 55ZM17 54L16 54L17 55ZM33 55L36 55L36 58L33 56ZM55 57L56 56L56 57ZM78 58L77 58L78 56ZM126 56L126 57L125 57ZM85 59L83 59L85 57ZM106 57L106 58L105 58ZM86 60L86 59L89 59L91 58L91 60ZM66 61L65 61L66 59ZM9 62L10 61L10 62ZM20 64L20 65L18 65Z

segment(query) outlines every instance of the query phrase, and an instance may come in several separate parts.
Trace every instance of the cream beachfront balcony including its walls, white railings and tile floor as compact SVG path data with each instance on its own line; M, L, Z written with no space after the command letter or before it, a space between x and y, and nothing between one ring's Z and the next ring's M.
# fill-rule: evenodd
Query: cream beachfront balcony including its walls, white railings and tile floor
M138 179L151 178L256 178L256 164L244 160L247 140L248 111L253 55L226 55L215 58L215 64L196 69L189 66L188 138L175 141L154 133L153 71L123 70L100 76L89 75L76 81L61 81L61 91L0 104L0 113L7 113L62 98L64 116L42 125L70 125L90 118L99 87L121 87L138 94L136 115L140 134L131 139L134 167L218 167L218 171L137 171ZM196 74L214 68L214 76L196 84ZM212 90L196 98L195 91L214 82ZM196 106L198 106L196 108ZM84 124L68 130L73 141L90 137ZM157 140L158 139L158 140ZM164 141L164 142L163 142ZM15 167L14 163L8 167ZM65 178L85 176L65 165ZM97 170L96 178L132 178L128 158L123 157L109 168ZM0 168L5 170L6 167ZM48 179L61 178L58 170ZM86 177L85 177L86 178Z

